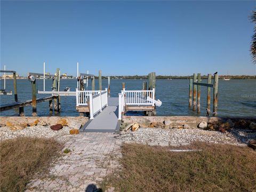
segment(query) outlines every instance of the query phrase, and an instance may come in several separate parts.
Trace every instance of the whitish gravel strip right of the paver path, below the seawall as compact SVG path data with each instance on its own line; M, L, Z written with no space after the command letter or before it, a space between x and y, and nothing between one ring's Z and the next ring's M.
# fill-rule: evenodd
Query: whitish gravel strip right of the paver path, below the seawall
M218 144L248 144L255 139L256 131L231 129L227 133L203 129L161 129L139 128L137 131L122 131L116 138L136 143L155 144L188 144L193 141L204 141Z

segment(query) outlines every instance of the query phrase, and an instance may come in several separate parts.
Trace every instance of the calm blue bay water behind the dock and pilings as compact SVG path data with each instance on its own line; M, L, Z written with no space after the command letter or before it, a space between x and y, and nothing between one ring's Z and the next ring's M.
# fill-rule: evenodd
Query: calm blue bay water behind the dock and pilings
M51 90L52 80L46 80L46 90ZM110 90L111 97L118 97L121 93L122 82L125 82L126 90L140 90L143 80L111 80ZM206 80L202 80L206 83ZM107 79L102 80L102 88L107 87ZM3 89L4 80L1 80L1 89ZM75 91L77 81L75 79L61 80L60 90L70 87ZM31 82L27 79L18 79L18 99L24 101L31 99ZM157 80L156 81L156 98L160 99L163 104L157 107L158 116L172 115L197 115L191 108L188 108L188 86L189 80ZM89 84L89 89L91 85ZM95 89L98 88L98 81L95 81ZM37 89L43 90L43 80L37 80ZM206 87L201 87L201 115L205 116L206 108ZM13 91L13 80L6 80L6 91ZM37 98L50 96L37 94ZM213 99L213 91L211 91ZM14 102L14 95L1 95L1 104ZM218 95L218 116L256 116L256 80L219 80ZM78 116L76 111L75 96L61 96L61 116ZM211 100L212 103L212 100ZM212 110L212 106L211 106ZM26 116L31 116L31 106L25 107ZM49 103L37 104L38 116L49 115ZM139 115L140 113L133 113ZM15 110L3 111L1 116L17 116Z

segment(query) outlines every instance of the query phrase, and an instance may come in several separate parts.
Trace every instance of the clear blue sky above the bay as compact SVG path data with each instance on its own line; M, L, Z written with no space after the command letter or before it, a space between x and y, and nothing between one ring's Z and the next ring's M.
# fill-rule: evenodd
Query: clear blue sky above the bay
M256 1L1 1L1 69L256 75Z

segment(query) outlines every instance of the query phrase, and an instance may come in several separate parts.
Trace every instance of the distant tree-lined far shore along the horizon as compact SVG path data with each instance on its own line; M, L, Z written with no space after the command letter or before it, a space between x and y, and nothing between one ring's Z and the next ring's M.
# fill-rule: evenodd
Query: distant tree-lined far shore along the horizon
M95 79L99 79L98 76L94 76ZM214 76L212 76L213 79ZM193 79L193 76L156 76L156 79ZM201 79L207 79L207 75L201 76ZM230 75L219 75L219 79L256 79L256 76L230 76ZM3 77L0 77L0 79L4 79ZM13 79L12 77L6 77L6 79ZM27 77L17 77L17 79L28 79ZM65 78L60 77L60 79L76 79L74 76L68 76ZM102 76L102 79L108 79L108 76ZM148 79L148 76L110 76L110 79Z

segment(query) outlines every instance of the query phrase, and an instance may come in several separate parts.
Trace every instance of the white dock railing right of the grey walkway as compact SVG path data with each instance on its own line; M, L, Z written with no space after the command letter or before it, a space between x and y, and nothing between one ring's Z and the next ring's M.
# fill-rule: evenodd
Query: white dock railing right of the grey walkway
M122 119L125 105L155 105L155 89L153 90L122 90L119 96L118 119ZM150 99L149 99L150 98Z

